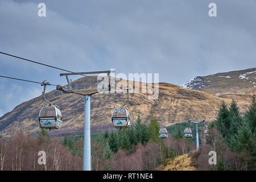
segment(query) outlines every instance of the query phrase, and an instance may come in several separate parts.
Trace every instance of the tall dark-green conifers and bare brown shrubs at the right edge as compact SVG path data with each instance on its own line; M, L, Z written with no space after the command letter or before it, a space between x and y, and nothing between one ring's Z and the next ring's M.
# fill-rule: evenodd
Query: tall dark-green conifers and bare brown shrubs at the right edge
M222 102L217 117L208 127L209 137L197 154L197 166L203 170L255 170L256 168L256 103L255 95L245 114L237 102ZM209 165L208 152L216 151L217 165Z

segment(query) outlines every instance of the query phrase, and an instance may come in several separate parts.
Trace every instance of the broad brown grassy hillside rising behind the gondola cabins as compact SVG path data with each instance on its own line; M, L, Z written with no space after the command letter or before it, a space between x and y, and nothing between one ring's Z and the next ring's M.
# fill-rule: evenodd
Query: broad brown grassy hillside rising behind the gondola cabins
M82 77L72 82L72 87L84 86L88 88L96 84L92 78ZM92 82L92 84L89 84ZM161 125L168 126L177 122L184 122L192 117L200 119L203 117L207 121L213 121L214 114L222 100L230 102L232 98L217 98L211 94L199 90L182 88L168 83L159 83L158 100L148 100L146 94L136 94L152 105L134 97L130 94L130 102L127 107L130 110L131 122L135 122L138 115L142 122L148 122L150 115L154 114L162 118ZM84 123L84 97L76 94L64 94L58 90L52 90L46 94L46 98L60 106L63 114L63 127L58 131L51 131L51 134L70 132L71 130L82 130ZM98 99L100 100L98 100ZM250 97L236 97L238 106L242 113L250 103ZM106 102L104 102L106 101ZM106 123L111 126L111 115L114 105L122 105L126 101L126 94L94 94L91 99L91 125L96 126ZM38 114L44 103L42 96L30 101L23 102L16 106L12 111L0 118L0 135L10 136L18 130L35 133L38 128ZM113 105L114 104L114 105ZM158 107L170 111L164 111ZM141 113L141 114L139 114ZM109 125L110 123L110 125Z

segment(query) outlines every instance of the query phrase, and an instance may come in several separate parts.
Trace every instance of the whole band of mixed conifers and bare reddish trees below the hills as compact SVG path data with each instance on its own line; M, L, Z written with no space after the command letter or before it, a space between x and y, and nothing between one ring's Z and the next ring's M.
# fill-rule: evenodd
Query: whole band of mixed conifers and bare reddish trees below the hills
M255 170L255 96L245 114L241 114L235 100L222 102L216 119L199 125L200 148L196 151L195 137L185 138L188 122L166 127L169 136L159 138L159 121L137 121L130 129L92 134L92 170L155 170L166 165L167 159L188 154L192 166L198 170ZM10 138L0 138L0 170L82 170L83 136L50 137L40 129L36 136L19 131ZM38 152L46 152L46 164L38 164ZM217 164L209 165L209 151L217 152Z

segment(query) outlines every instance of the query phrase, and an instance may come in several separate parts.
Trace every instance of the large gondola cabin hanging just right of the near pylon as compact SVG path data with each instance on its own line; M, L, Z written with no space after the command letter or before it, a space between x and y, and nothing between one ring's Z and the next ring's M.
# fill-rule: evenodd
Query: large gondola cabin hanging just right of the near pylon
M131 126L130 114L125 106L115 107L112 113L112 123L117 129L127 129Z

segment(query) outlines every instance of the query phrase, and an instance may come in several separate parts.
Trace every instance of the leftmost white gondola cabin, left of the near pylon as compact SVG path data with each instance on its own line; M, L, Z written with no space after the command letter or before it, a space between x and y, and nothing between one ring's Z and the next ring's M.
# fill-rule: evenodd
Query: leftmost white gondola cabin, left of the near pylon
M58 106L44 106L39 113L39 126L43 129L60 129L62 126L61 112Z

